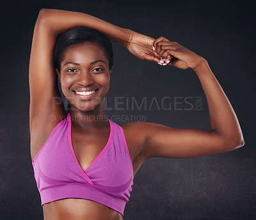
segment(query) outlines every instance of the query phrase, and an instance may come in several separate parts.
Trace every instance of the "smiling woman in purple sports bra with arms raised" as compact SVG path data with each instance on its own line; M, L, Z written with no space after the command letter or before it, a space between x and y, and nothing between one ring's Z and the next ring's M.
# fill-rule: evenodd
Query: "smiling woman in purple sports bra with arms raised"
M149 122L119 126L107 119L104 97L113 70L108 39L140 59L192 68L207 98L211 131ZM40 10L29 85L31 158L46 220L123 219L133 177L146 159L191 158L244 145L236 114L203 57L85 13Z

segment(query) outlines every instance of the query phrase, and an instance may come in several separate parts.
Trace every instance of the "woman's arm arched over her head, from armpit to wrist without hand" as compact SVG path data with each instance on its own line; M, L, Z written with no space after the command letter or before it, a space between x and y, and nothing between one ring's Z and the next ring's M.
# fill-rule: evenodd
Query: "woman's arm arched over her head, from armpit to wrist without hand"
M65 117L53 64L58 36L73 27L86 26L100 31L109 40L127 46L132 31L76 11L41 9L36 20L29 61L29 127L31 157L42 148L52 129Z

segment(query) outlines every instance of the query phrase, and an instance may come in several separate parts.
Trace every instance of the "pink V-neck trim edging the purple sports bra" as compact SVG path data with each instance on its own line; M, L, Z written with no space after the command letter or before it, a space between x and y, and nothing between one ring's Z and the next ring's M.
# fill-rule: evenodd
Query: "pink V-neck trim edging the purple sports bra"
M108 119L108 118L107 118ZM108 119L109 122L109 126L110 126L110 132L109 132L109 136L108 136L108 142L106 143L106 145L104 146L104 148L100 151L100 153L97 155L97 157L95 159L93 159L92 163L90 164L90 166L88 166L88 168L86 168L86 170L83 170L83 168L81 167L81 165L79 164L77 158L76 158L76 154L74 151L74 147L72 144L72 135L71 135L71 127L72 127L72 122L70 119L70 113L68 113L67 115L67 120L68 120L68 143L69 143L69 147L70 150L72 152L73 158L76 162L76 166L79 169L79 171L82 173L82 175L85 177L85 179L94 186L92 180L88 177L88 175L86 175L86 173L93 167L93 165L98 161L98 159L100 158L100 156L102 156L102 154L104 154L104 152L106 151L106 149L108 149L112 139L113 139L113 124L112 121Z

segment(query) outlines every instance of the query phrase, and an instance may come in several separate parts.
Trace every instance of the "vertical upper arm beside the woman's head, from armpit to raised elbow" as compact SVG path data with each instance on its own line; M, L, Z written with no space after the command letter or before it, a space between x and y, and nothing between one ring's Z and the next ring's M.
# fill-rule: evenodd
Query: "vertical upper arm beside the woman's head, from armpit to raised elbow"
M52 61L56 36L49 31L43 13L36 20L29 60L31 142L44 139L65 115Z

